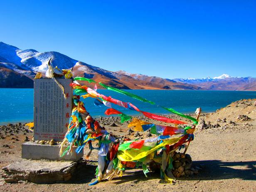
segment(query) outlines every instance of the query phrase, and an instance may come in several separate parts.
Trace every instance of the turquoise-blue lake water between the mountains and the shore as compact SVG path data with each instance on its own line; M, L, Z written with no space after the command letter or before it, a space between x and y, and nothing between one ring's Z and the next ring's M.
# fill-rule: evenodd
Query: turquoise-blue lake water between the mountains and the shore
M202 112L214 112L233 101L256 98L256 91L128 90L128 92L156 103L156 105L150 105L109 90L98 90L98 92L125 102L131 102L140 110L156 114L169 113L160 106L171 107L182 113L192 113L197 107L201 107ZM93 104L93 98L87 98L84 103L86 110L93 117L105 116L104 112L107 107L96 107ZM33 89L1 88L0 106L0 124L32 122ZM139 114L114 104L112 104L112 107L125 114Z

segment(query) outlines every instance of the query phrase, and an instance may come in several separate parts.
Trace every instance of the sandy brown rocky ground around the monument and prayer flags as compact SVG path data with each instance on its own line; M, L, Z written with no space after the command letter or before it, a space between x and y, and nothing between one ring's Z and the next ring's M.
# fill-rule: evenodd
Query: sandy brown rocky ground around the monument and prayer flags
M175 115L167 115L179 119ZM145 117L138 117L148 120ZM183 119L184 120L184 119ZM99 119L118 136L143 139L149 132L133 132L118 117ZM193 160L192 174L177 178L174 185L160 180L158 173L127 170L123 177L89 186L95 179L97 152L71 180L55 184L1 182L1 191L256 191L256 100L239 100L214 113L202 114L187 153ZM32 139L24 124L0 126L0 167L21 158L21 144ZM86 154L88 149L84 151ZM194 173L195 172L195 173ZM198 172L198 174L197 174ZM3 171L0 172L3 174Z

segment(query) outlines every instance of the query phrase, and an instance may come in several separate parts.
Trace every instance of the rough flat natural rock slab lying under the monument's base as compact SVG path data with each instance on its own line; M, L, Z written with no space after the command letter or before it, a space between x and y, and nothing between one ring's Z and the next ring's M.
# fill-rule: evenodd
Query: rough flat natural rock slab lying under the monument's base
M81 162L20 160L2 168L5 182L30 181L38 184L54 183L71 179Z

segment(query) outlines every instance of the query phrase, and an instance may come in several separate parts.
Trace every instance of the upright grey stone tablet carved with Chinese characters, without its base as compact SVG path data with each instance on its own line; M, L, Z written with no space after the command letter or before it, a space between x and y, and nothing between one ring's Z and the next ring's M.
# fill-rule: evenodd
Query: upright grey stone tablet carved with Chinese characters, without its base
M62 141L66 134L72 112L72 80L57 81L64 87L66 99L53 79L34 80L34 140Z

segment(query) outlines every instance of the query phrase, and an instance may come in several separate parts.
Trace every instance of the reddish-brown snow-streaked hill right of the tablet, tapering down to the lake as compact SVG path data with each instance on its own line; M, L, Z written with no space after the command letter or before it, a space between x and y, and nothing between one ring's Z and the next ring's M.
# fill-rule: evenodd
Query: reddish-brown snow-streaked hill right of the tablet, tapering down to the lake
M159 77L150 77L141 75L141 78L121 73L120 71L112 72L83 62L77 62L73 68L74 77L92 78L97 82L117 87L121 89L168 89L168 90L202 90L197 85L175 82Z

